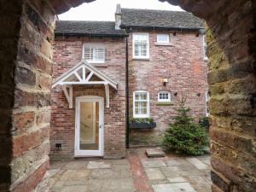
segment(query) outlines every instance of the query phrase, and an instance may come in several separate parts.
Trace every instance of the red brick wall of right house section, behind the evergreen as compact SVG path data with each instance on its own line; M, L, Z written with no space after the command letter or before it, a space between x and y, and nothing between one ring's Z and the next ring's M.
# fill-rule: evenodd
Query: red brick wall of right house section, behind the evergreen
M147 31L144 31L147 32ZM156 45L158 33L170 34L170 46ZM160 144L163 131L176 113L177 97L187 96L186 106L198 119L206 114L207 62L203 55L203 36L195 32L149 32L149 61L132 59L132 34L129 37L130 116L133 115L133 91L147 90L150 95L150 117L153 130L131 130L131 145ZM161 79L168 79L166 86ZM171 93L171 106L158 106L158 92ZM177 92L177 96L174 93ZM197 96L200 93L201 96Z

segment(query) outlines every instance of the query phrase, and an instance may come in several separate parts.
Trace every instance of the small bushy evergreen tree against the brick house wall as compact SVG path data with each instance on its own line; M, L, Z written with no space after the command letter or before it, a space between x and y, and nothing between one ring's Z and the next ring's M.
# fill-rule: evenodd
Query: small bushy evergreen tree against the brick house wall
M185 108L186 99L182 98L177 109L177 116L164 134L163 144L176 153L199 155L207 146L207 132L204 127L194 122Z

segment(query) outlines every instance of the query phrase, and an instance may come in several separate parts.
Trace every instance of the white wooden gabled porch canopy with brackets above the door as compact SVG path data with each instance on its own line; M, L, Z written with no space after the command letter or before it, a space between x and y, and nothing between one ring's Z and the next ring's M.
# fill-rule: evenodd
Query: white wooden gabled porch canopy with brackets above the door
M109 85L117 90L118 84L108 76L96 69L86 61L79 62L75 67L63 73L55 79L52 88L61 85L62 90L67 98L69 108L73 108L73 85L74 84L104 84L106 92L106 107L109 108Z

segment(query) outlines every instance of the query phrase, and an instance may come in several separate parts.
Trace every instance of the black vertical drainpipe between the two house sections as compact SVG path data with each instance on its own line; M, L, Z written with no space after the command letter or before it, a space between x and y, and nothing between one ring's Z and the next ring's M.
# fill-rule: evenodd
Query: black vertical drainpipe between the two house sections
M129 68L128 68L128 37L125 45L125 95L126 95L126 148L129 148L130 127L129 127Z

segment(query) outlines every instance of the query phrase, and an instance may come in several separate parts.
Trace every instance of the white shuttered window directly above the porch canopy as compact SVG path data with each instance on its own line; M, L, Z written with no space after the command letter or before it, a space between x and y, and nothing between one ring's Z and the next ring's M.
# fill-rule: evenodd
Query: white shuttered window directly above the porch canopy
M105 62L105 47L103 44L84 44L83 59L90 63Z

